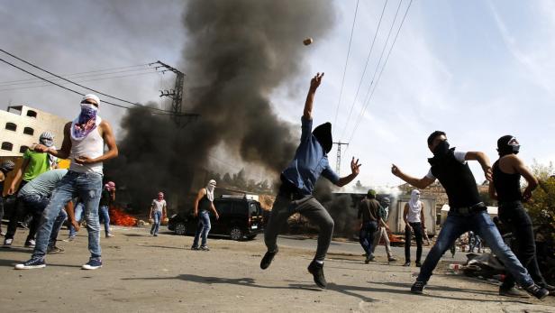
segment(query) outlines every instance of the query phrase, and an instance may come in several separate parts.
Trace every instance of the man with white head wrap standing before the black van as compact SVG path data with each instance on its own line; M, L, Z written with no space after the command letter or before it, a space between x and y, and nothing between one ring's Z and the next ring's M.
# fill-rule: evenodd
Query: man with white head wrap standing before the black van
M193 214L198 218L198 224L196 225L195 240L193 240L192 250L203 250L209 251L210 249L206 245L206 240L208 238L208 232L210 232L210 213L209 210L214 212L216 219L220 218L216 207L214 207L214 189L216 188L216 181L208 181L208 185L205 188L198 190L198 194L195 199L195 209ZM200 248L198 247L198 240L202 237Z

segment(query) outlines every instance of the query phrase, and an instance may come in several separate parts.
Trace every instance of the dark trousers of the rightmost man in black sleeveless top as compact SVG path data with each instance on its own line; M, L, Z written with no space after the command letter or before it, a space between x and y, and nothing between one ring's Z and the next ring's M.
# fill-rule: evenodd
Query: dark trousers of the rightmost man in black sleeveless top
M513 251L523 266L528 270L532 279L539 284L545 284L541 276L538 260L536 259L536 244L532 230L532 220L524 210L520 201L501 204L499 207L499 219L503 224L509 226L516 239ZM507 274L501 288L508 290L514 287L514 276Z

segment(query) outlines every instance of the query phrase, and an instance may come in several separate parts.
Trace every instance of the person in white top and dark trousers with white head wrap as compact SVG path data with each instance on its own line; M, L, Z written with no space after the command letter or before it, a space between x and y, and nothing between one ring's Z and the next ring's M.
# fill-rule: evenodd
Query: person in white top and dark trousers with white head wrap
M405 264L403 266L411 266L411 242L416 238L416 267L421 267L420 259L422 258L423 243L423 226L424 220L424 204L420 201L420 191L414 189L411 192L411 199L405 204L403 211L403 220L405 221Z

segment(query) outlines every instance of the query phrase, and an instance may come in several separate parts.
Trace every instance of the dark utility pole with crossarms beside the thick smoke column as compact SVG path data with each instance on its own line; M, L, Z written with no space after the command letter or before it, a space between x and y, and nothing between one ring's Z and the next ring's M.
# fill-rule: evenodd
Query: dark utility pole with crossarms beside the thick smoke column
M196 119L198 116L197 114L186 114L181 112L181 105L183 103L183 83L185 81L185 74L178 69L175 69L168 64L157 60L156 62L150 63L149 66L155 65L155 69L162 68L162 73L166 71L171 71L176 74L176 84L173 89L170 90L160 90L159 97L169 97L171 98L171 113L172 119L174 123L179 126L185 126L187 122L191 119ZM182 118L187 117L187 121L183 123Z

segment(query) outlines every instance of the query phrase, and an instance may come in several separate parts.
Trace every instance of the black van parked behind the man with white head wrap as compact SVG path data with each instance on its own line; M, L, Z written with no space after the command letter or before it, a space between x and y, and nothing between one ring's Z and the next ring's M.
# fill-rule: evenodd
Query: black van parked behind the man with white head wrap
M260 203L250 198L223 196L214 199L219 219L210 212L210 235L229 235L233 240L253 239L263 232L263 216ZM194 235L198 219L192 209L174 214L169 218L168 229L177 235Z

